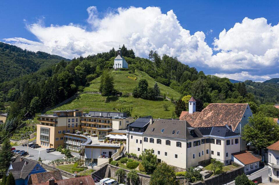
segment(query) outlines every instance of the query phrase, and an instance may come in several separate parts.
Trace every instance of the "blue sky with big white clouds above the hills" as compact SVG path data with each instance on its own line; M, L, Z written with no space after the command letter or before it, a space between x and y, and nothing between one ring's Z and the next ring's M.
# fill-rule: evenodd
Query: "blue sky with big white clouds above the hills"
M279 1L105 2L1 1L0 39L66 58L125 44L142 57L149 49L177 56L206 74L254 81L279 76Z

